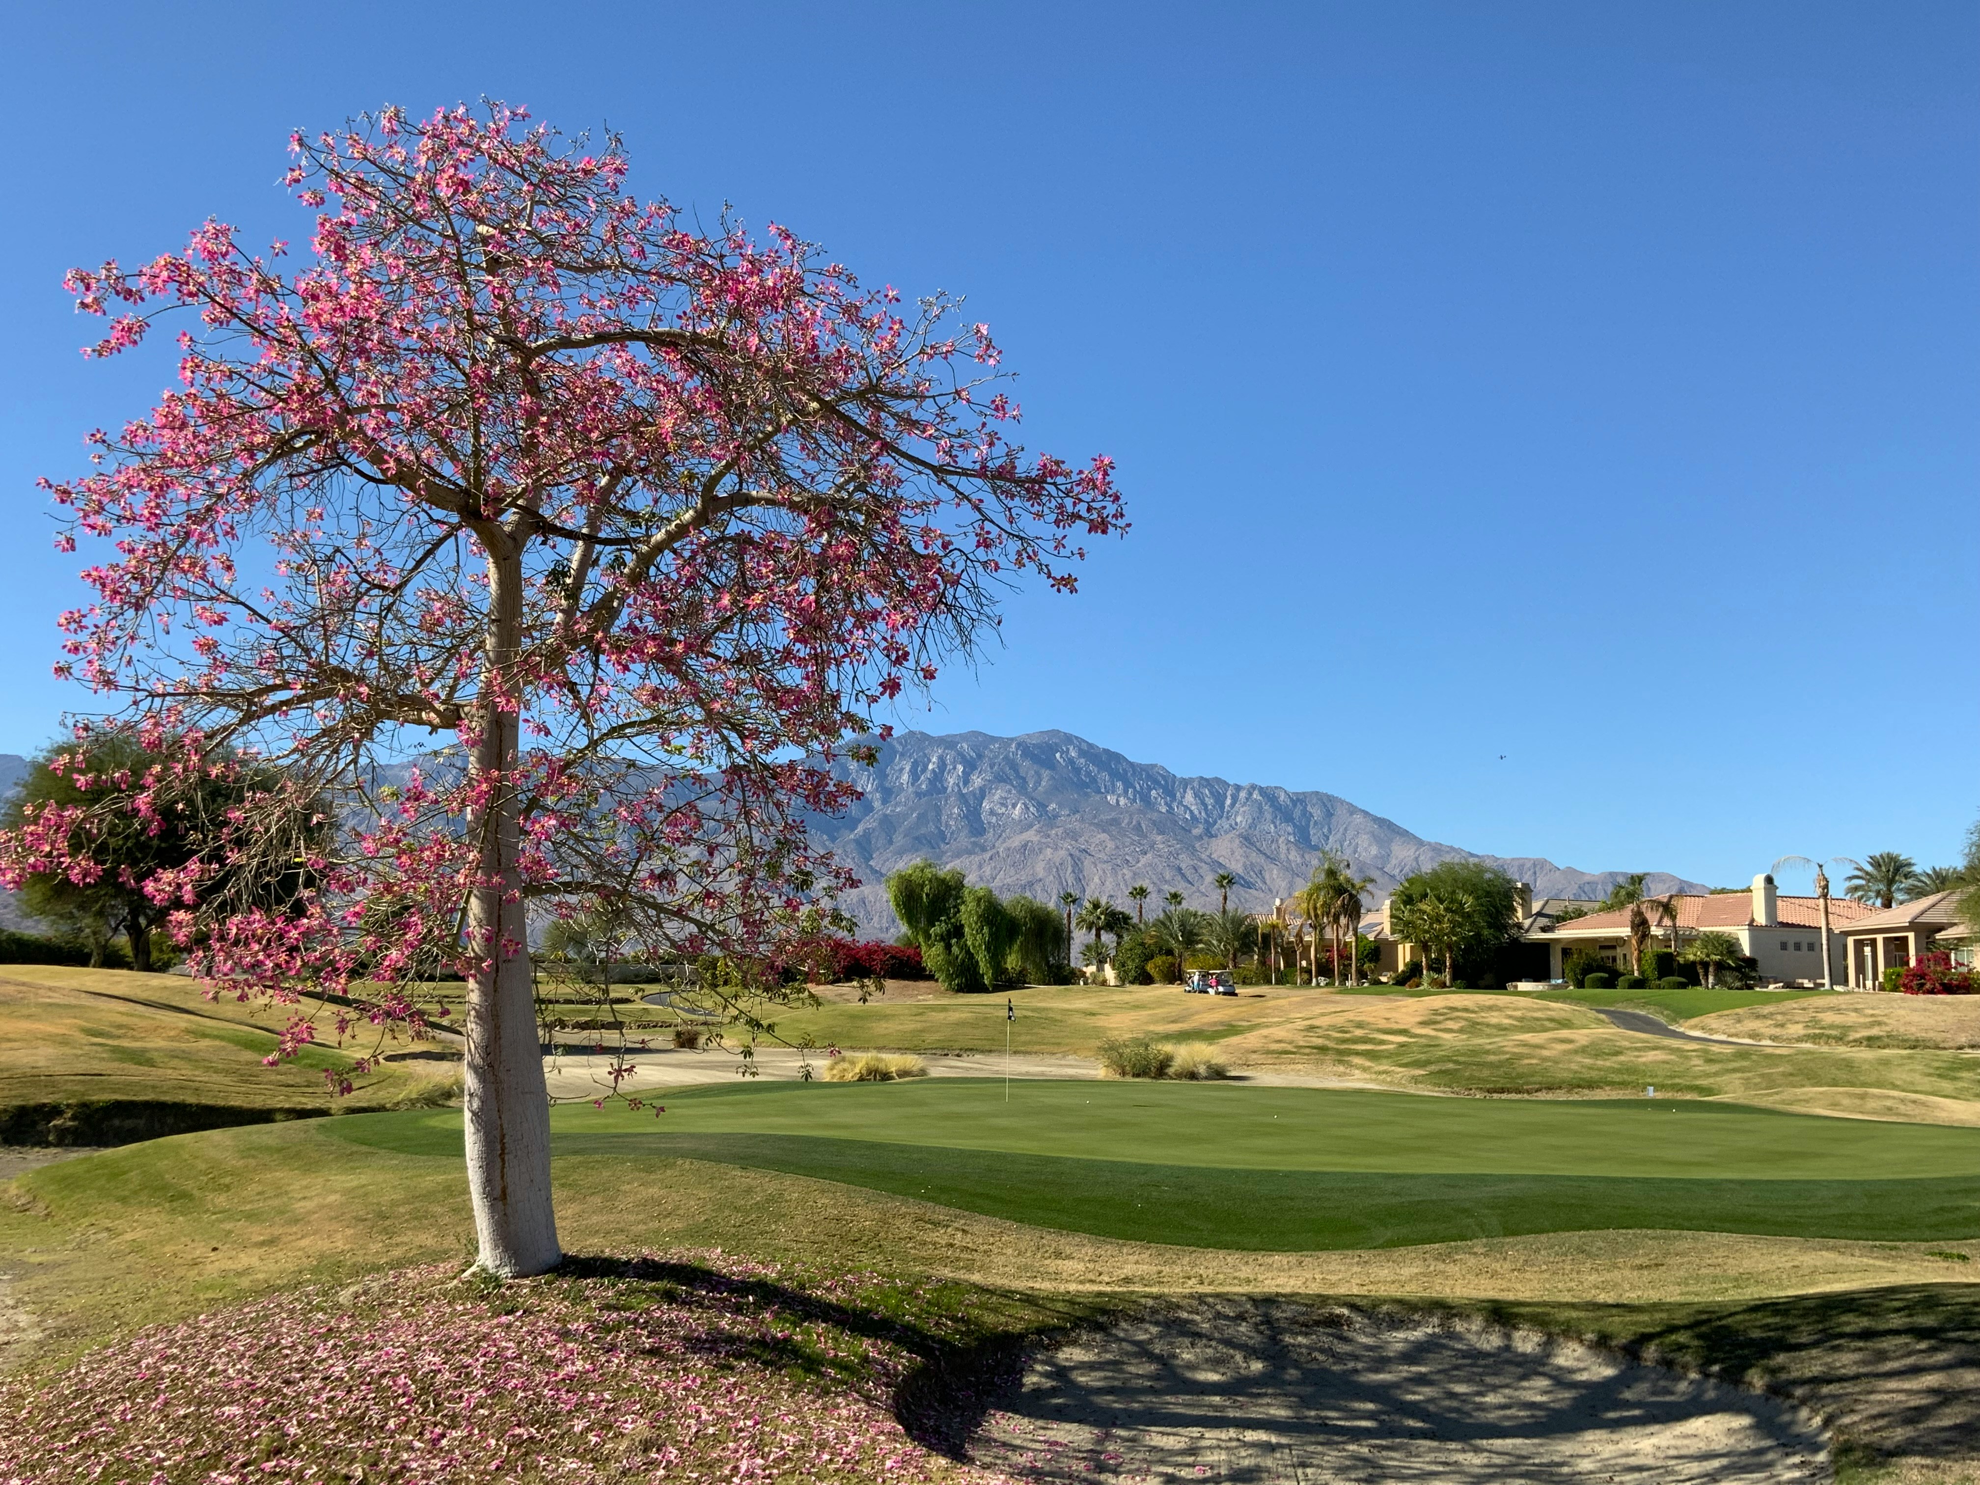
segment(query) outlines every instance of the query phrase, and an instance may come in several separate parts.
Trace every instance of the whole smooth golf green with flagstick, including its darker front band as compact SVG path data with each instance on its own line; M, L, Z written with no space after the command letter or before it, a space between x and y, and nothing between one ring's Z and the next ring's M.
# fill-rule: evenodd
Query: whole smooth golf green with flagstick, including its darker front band
M1663 1228L1980 1234L1980 1131L1715 1103L1430 1099L1188 1083L721 1085L562 1107L560 1156L782 1170L1101 1238L1299 1251ZM459 1156L459 1115L329 1133Z

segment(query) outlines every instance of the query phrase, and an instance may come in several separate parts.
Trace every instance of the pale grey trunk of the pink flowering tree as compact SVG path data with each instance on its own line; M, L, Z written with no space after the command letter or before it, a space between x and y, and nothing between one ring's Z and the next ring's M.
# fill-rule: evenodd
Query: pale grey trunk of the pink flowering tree
M515 661L523 632L523 564L489 554L487 675ZM495 685L485 681L487 691ZM517 851L515 792L519 719L483 713L469 774L493 788L469 820L481 847L481 881L467 903L471 952L481 960L467 988L467 1192L473 1198L477 1265L505 1279L554 1269L556 1210L550 1202L550 1093L537 1041L537 998L529 974Z

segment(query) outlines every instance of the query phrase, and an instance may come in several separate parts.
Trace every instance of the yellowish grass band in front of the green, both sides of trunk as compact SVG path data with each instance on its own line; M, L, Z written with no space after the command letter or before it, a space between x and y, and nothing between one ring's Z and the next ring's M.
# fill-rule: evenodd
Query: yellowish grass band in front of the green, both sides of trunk
M356 1127L305 1121L182 1135L0 1186L0 1364L48 1362L139 1325L299 1283L410 1263L465 1267L473 1224L461 1164L337 1137ZM554 1176L558 1232L572 1253L721 1247L1030 1291L1738 1303L1980 1277L1976 1241L1614 1230L1245 1251L1095 1238L673 1156L558 1154Z

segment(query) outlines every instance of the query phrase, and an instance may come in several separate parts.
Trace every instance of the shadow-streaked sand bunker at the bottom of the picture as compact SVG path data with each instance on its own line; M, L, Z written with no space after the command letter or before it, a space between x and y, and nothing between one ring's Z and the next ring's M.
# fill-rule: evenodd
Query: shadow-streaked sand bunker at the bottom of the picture
M972 1457L1018 1479L1832 1479L1800 1410L1586 1346L1214 1299L1038 1354Z

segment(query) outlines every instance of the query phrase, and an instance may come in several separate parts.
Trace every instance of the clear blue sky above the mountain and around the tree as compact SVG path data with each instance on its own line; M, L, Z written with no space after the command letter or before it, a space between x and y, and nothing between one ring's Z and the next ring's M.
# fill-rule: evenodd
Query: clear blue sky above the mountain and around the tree
M10 8L0 750L145 406L69 263L303 238L291 127L497 95L970 295L1137 521L931 731L1063 727L1473 849L1744 881L1980 812L1980 6ZM1505 754L1505 758L1501 758Z

